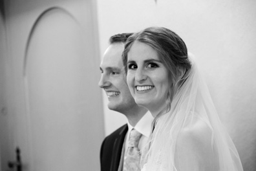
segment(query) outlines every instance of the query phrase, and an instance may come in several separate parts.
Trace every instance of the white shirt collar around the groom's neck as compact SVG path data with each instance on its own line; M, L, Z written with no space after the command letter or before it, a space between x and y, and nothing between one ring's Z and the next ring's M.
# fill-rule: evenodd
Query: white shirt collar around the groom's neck
M131 130L134 128L136 131L140 132L145 137L149 138L149 135L151 133L151 123L153 122L154 118L152 114L147 111L147 113L144 114L144 116L139 120L139 122L133 127L129 122L127 122L128 125L128 133L131 132Z

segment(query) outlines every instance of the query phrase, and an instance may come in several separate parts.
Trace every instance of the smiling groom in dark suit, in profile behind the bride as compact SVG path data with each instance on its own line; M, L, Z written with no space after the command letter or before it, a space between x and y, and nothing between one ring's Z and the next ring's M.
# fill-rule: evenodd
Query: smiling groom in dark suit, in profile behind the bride
M129 134L132 129L142 134L138 148L143 149L151 132L153 116L144 107L134 102L126 82L122 53L125 40L131 33L113 35L100 64L101 78L99 86L105 90L109 109L122 113L127 124L112 132L101 145L101 171L122 171L123 156L127 150Z

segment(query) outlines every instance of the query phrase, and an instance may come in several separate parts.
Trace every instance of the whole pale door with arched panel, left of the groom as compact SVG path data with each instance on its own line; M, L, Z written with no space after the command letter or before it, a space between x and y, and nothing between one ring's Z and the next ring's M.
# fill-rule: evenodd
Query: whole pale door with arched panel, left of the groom
M6 96L14 132L8 153L14 156L20 147L23 170L100 170L103 111L94 4L6 4L12 49Z

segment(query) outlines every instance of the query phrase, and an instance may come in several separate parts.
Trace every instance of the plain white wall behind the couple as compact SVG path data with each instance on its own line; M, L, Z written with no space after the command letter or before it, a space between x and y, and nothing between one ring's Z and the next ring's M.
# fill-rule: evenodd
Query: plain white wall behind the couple
M209 89L244 170L256 168L256 1L98 0L101 57L111 35L164 26L175 31L200 62ZM99 71L100 73L100 71ZM107 109L105 134L125 123Z

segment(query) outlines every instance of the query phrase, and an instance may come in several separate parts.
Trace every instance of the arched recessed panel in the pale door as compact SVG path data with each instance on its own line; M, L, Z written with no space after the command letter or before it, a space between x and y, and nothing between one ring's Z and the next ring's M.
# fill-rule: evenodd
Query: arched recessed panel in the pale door
M37 170L86 168L89 86L81 34L69 13L57 8L41 16L28 43L25 82Z

